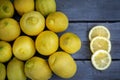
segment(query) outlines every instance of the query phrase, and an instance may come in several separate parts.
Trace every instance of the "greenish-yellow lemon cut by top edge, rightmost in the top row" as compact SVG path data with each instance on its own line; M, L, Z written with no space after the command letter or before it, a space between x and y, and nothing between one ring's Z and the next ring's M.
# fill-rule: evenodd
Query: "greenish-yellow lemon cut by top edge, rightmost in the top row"
M55 0L36 0L36 10L47 16L56 11L56 2Z

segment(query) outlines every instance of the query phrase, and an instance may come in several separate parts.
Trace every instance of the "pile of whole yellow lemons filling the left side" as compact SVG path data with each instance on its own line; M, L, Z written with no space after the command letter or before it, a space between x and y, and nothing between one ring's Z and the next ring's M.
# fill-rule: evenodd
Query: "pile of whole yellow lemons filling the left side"
M55 0L0 0L0 80L6 75L8 80L48 80L52 73L74 76L77 65L70 54L80 50L81 40L72 32L57 35L68 26L67 16L56 11Z

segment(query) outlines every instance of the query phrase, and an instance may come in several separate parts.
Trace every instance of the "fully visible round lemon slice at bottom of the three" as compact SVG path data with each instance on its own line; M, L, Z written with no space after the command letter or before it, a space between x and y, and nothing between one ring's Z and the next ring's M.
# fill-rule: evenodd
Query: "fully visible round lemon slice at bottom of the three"
M111 64L111 55L105 50L98 50L92 55L91 60L97 70L105 70Z

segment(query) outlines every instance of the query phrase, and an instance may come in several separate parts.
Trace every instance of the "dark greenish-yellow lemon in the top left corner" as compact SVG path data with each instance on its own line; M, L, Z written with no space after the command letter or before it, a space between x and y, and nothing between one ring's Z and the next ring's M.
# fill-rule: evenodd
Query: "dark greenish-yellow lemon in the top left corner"
M0 0L0 18L12 17L14 7L10 0Z

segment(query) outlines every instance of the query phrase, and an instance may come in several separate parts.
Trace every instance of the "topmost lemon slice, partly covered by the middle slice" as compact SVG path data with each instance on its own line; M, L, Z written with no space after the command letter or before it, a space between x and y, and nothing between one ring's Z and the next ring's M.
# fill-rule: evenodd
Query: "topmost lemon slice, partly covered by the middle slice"
M95 26L89 32L89 40L91 41L97 36L102 36L110 39L110 32L105 26Z

